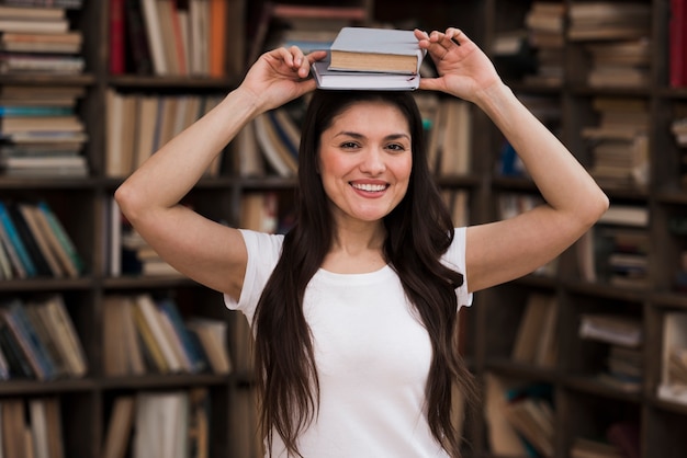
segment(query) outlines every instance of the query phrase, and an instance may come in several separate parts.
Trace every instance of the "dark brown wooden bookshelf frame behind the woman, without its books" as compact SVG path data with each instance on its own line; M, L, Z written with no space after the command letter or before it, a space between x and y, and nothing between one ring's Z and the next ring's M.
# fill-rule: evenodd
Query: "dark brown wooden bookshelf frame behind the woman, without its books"
M192 1L182 2L182 9L189 8ZM228 312L218 294L174 275L112 275L109 218L113 210L110 203L123 176L108 172L105 151L109 148L109 123L105 114L109 93L131 98L150 95L157 100L180 95L212 98L235 87L249 60L251 38L259 28L262 2L224 1L227 12L226 61L222 75L214 77L156 75L151 69L146 72L145 68L142 70L133 66L131 60L124 61L123 69L113 70L110 36L117 25L112 20L110 8L126 3L128 0L125 3L119 3L117 0L85 1L81 8L67 11L70 25L81 31L86 38L82 45L86 61L83 72L68 76L0 75L0 88L18 85L37 91L54 85L82 93L77 111L88 134L82 153L89 164L88 175L80 178L0 175L2 199L35 202L45 198L50 204L86 265L83 273L76 278L42 276L1 279L0 297L4 301L14 297L30 299L38 295L60 294L89 363L88 374L80 378L52 381L16 378L2 381L0 403L13 405L12 401L20 399L30 409L30 405L45 401L44 409L48 411L54 409L48 405L55 405L54 400L58 400L65 456L101 457L113 412L126 411L127 397L138 393L193 392L195 397L192 399L201 399L198 402L202 412L203 398L199 396L205 392L204 399L212 402L207 435L210 456L260 456L249 422L246 421L251 417L252 393L249 359L245 352L249 333L243 317ZM325 4L317 1L304 3ZM536 60L533 67L528 61L522 67L522 62L518 62L522 55L500 55L498 49L503 48L497 45L513 45L514 36L521 36L521 32L531 26L528 13L534 3L529 0L438 1L431 4L351 0L341 4L360 8L364 11L364 21L373 19L398 27L462 27L492 54L514 91L536 104L542 111L542 116L549 116L547 124L550 128L590 170L597 156L590 147L593 142L583 131L601 126L601 115L595 108L598 99L639 100L645 104L649 113L647 125L643 130L647 161L642 163L646 180L610 180L604 183L611 205L649 211L649 221L642 228L647 234L647 250L642 253L649 265L646 282L638 287L632 282L613 285L605 275L598 275L596 280L584 276L589 268L595 274L602 273L597 271L598 263L606 261L606 257L588 256L595 251L588 251L589 240L585 239L563 253L555 265L477 294L473 307L461 312L461 345L485 397L480 409L466 412L470 421L464 422L464 455L523 456L521 451L509 454L504 448L506 438L495 433L504 431L503 421L495 424L494 411L488 411L485 403L494 394L503 394L507 386L543 386L548 390L545 397L553 407L553 435L550 438L552 456L572 456L572 450L579 447L585 438L604 437L611 426L622 430L630 422L639 425L640 456L682 457L687 454L680 436L687 427L687 407L684 402L658 396L660 387L665 381L664 339L668 339L666 329L669 328L664 323L675 316L687 313L684 284L679 282L680 273L687 270L683 260L683 253L687 250L684 225L687 193L683 165L686 150L684 140L680 142L672 130L674 123L687 113L687 91L671 84L669 12L673 1L640 2L647 9L650 53L649 61L644 64L649 69L645 75L649 80L638 87L590 83L587 79L587 70L592 67L587 49L590 43L567 34L572 24L567 15L562 19L562 36L558 42L554 41L558 44L550 45L558 49L559 57L562 57L560 60L552 58L551 53L539 53L540 57L548 55L549 60ZM570 12L573 7L593 2L564 0L553 3L565 5ZM537 71L544 62L545 75L543 70ZM556 69L556 65L562 70ZM292 114L297 115L299 106L290 108L293 110ZM471 113L473 135L469 172L442 174L437 180L447 195L453 196L452 202L465 203L468 214L461 214L461 220L466 218L471 224L480 224L502 217L505 215L502 211L514 211L514 208L529 205L528 202L536 199L537 195L526 175L499 172L506 152L502 138L481 113ZM241 152L248 151L248 146L239 139L229 145L225 160L189 194L188 204L212 218L239 225L244 220L248 202L270 202L270 205L277 202L278 221L281 220L285 226L293 178L279 176L270 170L269 164L262 164L267 165L264 174L243 173L240 163L229 158L241 157ZM485 154L484 151L489 153ZM630 175L637 178L637 174ZM506 206L514 202L518 203L515 207ZM585 252L587 256L581 256L579 253ZM106 325L105 305L112 296L134 297L140 294L173 298L183 317L201 316L225 323L234 366L232 373L106 375L105 343L102 339ZM542 297L555 305L552 319L556 327L553 334L556 347L553 364L551 355L547 356L547 364L541 364L541 359L527 363L521 355L514 357L513 354L516 341L520 339L519 323L528 316L529 305ZM639 389L637 386L632 386L632 389L623 386L627 389L620 389L601 380L600 375L609 368L607 356L613 345L579 335L583 319L597 313L639 320L643 334L641 345L635 348L639 350L641 360ZM494 380L498 382L497 388L500 387L496 391ZM488 408L492 407L489 403ZM37 411L41 408L31 409ZM8 410L12 411L12 408ZM498 416L499 411L496 412ZM50 414L54 415L54 412ZM503 415L499 417L503 420ZM133 447L131 436L127 447ZM132 456L131 449L125 456Z

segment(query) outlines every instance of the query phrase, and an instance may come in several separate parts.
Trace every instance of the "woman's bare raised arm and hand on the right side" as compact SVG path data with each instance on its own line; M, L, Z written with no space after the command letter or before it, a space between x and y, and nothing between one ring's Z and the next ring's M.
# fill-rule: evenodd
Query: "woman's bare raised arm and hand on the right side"
M480 106L518 152L545 201L515 218L468 229L468 285L474 291L526 275L589 229L608 208L608 198L565 146L518 101L465 34L457 28L415 34L439 73L423 79L420 89L442 91Z

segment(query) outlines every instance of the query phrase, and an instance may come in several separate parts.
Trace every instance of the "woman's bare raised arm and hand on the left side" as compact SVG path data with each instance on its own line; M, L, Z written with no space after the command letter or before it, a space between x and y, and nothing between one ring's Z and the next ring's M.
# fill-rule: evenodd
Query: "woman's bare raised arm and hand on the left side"
M241 84L211 112L160 148L115 192L126 218L179 272L238 298L247 253L236 229L179 205L215 157L252 118L315 89L313 60L299 48L266 53Z

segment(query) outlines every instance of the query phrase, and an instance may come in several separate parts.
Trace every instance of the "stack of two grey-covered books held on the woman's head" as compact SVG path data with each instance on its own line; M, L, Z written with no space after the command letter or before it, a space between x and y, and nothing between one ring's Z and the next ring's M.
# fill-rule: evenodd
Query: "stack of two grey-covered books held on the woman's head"
M415 90L425 54L413 31L344 27L312 72L320 89Z

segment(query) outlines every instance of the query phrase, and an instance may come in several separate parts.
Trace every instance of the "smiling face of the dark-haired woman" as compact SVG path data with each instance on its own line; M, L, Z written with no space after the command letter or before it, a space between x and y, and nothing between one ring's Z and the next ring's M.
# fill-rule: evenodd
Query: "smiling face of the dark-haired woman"
M337 222L376 221L403 199L413 167L408 122L384 102L360 102L323 131L319 173Z

